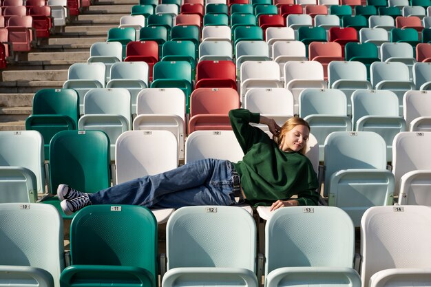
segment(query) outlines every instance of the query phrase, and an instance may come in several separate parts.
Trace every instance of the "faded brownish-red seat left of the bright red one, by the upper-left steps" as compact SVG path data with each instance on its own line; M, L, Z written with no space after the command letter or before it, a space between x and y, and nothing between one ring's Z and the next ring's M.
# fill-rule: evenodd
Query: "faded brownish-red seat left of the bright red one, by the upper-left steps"
M9 32L9 42L12 49L19 52L32 50L34 35L32 32L33 18L31 16L11 16L6 29Z

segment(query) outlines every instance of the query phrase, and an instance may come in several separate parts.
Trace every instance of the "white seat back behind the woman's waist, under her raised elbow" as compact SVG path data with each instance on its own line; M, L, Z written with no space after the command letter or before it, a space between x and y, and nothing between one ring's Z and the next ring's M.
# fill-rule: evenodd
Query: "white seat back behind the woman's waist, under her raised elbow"
M233 131L193 131L185 143L185 162L202 158L238 162L243 156L244 152Z

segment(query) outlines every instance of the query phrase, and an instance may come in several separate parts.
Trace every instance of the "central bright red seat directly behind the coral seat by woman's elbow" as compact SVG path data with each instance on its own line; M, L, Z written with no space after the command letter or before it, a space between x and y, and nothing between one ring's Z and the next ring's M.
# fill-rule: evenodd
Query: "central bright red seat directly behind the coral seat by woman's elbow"
M232 61L201 61L196 66L196 89L230 87L237 89L236 68Z

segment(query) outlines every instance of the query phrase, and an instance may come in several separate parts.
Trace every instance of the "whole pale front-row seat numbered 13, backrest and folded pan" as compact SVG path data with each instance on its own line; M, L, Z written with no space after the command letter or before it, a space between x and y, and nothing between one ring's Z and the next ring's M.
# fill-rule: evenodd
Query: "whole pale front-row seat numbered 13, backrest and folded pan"
M361 286L354 255L355 228L341 209L277 209L265 226L265 286Z

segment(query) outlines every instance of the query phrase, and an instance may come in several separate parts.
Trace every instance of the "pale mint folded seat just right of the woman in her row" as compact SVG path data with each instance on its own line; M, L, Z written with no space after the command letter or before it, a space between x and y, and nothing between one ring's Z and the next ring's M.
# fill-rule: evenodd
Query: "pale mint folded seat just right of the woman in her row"
M364 153L364 150L367 152ZM372 206L393 204L394 175L386 169L386 142L372 131L336 131L325 141L324 194L359 227Z

